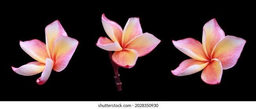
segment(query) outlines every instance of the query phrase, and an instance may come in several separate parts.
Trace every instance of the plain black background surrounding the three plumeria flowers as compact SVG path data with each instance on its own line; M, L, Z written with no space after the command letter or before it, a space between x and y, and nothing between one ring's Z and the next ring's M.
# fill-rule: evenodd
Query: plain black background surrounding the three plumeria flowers
M250 5L39 5L10 5L2 12L1 101L255 101L255 12ZM129 18L139 17L143 33L161 40L151 53L139 57L133 68L119 68L122 91L115 86L108 51L95 44L99 37L108 37L101 22L103 13L122 28ZM247 40L238 62L223 70L218 85L204 83L202 71L174 76L170 70L190 57L176 49L172 40L192 37L201 42L203 26L212 18L226 35ZM79 45L66 69L52 70L48 81L38 85L41 73L22 76L11 66L35 61L21 49L19 40L45 43L44 29L57 19Z

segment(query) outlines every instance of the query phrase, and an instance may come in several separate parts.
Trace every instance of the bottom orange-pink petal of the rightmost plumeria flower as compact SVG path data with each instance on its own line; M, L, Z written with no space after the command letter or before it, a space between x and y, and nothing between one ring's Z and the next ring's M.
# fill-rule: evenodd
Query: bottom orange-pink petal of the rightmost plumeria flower
M219 84L222 76L222 65L221 62L214 58L211 60L210 65L203 69L201 79L207 84Z

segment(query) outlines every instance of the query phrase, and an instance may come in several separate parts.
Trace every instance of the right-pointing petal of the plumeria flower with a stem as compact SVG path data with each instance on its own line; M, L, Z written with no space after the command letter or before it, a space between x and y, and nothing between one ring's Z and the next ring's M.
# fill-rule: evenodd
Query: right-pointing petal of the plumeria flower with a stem
M161 40L157 39L154 35L143 33L128 42L124 48L134 49L140 57L150 53L160 42Z

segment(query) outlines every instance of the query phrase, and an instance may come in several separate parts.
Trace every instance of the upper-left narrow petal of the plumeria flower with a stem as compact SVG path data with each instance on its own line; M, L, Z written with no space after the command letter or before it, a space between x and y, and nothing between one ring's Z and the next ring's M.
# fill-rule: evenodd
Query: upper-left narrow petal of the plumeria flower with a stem
M116 22L111 21L110 19L106 18L105 14L102 14L101 17L102 25L107 33L108 37L110 37L113 42L119 42L119 44L122 43L122 33L123 29L120 25L118 25Z

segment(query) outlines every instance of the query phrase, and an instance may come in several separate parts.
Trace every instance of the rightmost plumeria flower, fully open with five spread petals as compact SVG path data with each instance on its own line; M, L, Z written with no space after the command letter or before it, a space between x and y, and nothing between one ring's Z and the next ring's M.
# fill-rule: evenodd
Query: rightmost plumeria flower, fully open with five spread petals
M192 59L181 62L171 72L176 76L186 76L203 69L201 79L205 83L219 84L223 70L233 67L238 61L246 40L225 36L214 18L204 25L202 42L192 38L172 40L177 49Z

